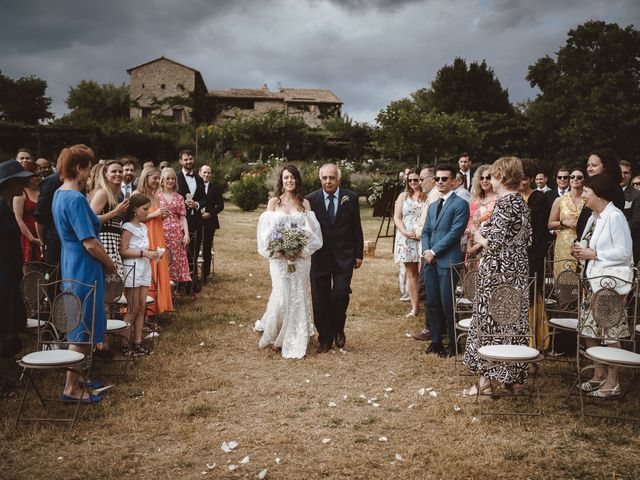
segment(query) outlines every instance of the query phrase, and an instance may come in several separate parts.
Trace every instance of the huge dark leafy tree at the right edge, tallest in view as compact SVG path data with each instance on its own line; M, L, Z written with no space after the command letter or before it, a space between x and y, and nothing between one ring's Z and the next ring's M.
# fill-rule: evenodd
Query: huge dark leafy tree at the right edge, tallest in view
M570 30L556 59L538 59L527 80L541 91L527 115L542 155L577 162L612 147L637 158L640 32L633 26L589 21Z

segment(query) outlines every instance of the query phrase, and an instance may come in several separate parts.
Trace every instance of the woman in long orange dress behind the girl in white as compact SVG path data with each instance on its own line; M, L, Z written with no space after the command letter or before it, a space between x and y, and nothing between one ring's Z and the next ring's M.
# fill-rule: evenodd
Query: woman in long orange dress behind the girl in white
M143 222L147 225L149 250L162 248L164 251L166 250L166 245L164 243L162 221L169 215L169 212L166 208L160 207L160 202L156 196L159 187L160 170L156 167L146 167L140 174L138 189L133 193L136 195L145 195L151 201L149 215L143 219ZM151 262L151 282L152 286L149 288L149 296L151 296L155 302L149 308L155 315L162 312L173 311L171 281L169 278L169 259L167 255L162 255L157 262Z

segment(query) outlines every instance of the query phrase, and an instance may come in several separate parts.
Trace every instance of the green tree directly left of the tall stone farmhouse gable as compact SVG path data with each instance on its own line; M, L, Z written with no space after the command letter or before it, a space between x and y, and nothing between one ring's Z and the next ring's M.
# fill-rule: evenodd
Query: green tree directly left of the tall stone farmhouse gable
M71 110L70 121L76 124L129 118L129 87L81 80L69 88L65 103Z

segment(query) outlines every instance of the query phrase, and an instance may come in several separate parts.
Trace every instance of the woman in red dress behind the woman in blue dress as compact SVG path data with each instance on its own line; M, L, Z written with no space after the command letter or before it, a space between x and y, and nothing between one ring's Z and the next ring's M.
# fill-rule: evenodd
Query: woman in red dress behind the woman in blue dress
M13 213L22 233L20 236L22 260L24 263L29 263L43 260L42 242L38 237L36 219L33 216L38 204L38 186L42 176L38 173L38 166L30 160L23 162L22 167L33 175L29 177L22 195L13 198Z

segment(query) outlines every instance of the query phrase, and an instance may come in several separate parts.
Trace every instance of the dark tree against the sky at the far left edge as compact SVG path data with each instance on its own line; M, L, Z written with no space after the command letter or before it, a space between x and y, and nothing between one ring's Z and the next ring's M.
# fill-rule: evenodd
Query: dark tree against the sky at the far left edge
M53 118L47 82L31 75L13 80L0 72L0 120L37 125Z

